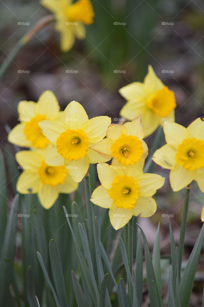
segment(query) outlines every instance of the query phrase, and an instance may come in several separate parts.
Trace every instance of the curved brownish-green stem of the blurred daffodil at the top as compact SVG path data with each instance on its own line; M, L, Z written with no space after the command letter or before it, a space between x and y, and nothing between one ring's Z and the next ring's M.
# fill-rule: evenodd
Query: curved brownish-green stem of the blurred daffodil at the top
M10 64L13 62L14 58L17 56L18 52L22 49L22 47L27 44L31 38L35 36L37 32L39 32L42 28L44 28L46 25L48 25L50 22L54 21L53 15L46 15L45 17L42 17L40 20L37 21L37 23L34 25L34 27L29 30L13 47L13 49L10 51L8 56L5 58L5 60L2 62L0 66L0 79L6 72L7 68L10 66Z

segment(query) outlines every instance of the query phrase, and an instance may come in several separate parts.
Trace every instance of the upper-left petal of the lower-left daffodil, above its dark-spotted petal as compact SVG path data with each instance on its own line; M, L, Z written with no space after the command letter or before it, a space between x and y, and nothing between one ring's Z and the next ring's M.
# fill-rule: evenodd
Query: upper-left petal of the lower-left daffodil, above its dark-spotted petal
M24 170L37 173L38 168L41 166L45 158L43 154L38 151L22 150L16 153L16 160Z

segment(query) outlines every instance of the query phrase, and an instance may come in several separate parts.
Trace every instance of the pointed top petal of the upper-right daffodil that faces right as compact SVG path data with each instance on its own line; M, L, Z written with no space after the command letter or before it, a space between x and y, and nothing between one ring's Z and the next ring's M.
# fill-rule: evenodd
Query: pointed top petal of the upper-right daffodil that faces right
M156 91L164 87L164 84L157 77L151 65L148 65L148 73L144 78L144 85L146 87L148 95L154 95Z

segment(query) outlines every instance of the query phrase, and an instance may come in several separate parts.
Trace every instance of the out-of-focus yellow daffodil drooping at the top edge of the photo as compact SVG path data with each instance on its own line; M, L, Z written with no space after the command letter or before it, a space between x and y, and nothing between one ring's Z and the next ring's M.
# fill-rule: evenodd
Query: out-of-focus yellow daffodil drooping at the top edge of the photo
M93 23L94 11L90 0L41 0L41 4L54 13L56 30L61 33L61 50L69 51L75 37L86 36L84 25Z

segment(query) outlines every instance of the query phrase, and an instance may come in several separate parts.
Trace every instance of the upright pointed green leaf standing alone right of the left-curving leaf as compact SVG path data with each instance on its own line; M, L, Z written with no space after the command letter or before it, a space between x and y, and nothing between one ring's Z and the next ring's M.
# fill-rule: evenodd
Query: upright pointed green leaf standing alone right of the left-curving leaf
M160 257L160 246L159 246L159 229L160 225L158 225L156 237L155 237L155 243L153 248L153 254L152 254L152 265L155 271L155 277L157 282L157 288L159 292L159 299L160 303L162 302L162 278L161 278L161 257Z

